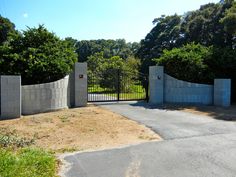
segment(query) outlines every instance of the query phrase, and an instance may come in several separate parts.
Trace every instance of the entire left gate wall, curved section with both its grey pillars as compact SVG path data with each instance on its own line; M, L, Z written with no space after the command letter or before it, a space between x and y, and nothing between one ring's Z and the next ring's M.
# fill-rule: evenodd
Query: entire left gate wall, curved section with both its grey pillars
M0 92L1 118L86 106L87 63L75 63L70 76L45 84L21 86L20 76L1 76Z

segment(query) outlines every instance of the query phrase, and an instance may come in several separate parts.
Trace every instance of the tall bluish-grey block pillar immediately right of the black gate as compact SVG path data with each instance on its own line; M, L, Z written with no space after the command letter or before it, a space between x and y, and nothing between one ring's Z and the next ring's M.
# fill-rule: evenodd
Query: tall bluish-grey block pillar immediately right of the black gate
M164 103L164 67L149 67L149 102L151 104Z

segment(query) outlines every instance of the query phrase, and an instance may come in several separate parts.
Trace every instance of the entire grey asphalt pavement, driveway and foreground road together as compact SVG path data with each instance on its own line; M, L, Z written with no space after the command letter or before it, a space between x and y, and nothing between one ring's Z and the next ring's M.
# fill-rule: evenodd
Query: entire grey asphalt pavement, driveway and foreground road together
M164 140L64 160L67 177L235 177L236 123L141 103L101 105L151 127Z

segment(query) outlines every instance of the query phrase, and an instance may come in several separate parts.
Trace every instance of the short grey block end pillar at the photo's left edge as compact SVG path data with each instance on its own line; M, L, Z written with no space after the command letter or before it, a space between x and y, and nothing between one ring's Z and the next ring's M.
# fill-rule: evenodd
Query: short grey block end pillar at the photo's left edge
M1 76L1 119L21 116L21 77Z

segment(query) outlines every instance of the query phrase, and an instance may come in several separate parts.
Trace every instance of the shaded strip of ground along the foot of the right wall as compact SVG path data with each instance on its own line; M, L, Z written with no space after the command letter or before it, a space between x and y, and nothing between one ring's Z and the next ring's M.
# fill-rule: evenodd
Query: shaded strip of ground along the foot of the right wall
M163 104L153 105L145 102L131 103L131 106L141 106L146 109L163 109L167 111L184 111L198 115L210 116L214 119L225 121L236 121L236 105L230 107L190 105L190 104Z

